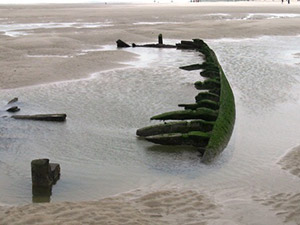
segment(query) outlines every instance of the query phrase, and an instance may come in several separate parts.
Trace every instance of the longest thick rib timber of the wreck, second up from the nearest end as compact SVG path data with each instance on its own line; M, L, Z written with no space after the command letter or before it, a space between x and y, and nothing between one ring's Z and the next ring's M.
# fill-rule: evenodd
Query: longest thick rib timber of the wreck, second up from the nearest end
M203 131L208 132L213 129L214 122L205 120L193 120L169 122L164 124L157 124L153 126L143 127L136 131L136 134L140 137L153 136L158 134L168 133L188 133L191 131Z

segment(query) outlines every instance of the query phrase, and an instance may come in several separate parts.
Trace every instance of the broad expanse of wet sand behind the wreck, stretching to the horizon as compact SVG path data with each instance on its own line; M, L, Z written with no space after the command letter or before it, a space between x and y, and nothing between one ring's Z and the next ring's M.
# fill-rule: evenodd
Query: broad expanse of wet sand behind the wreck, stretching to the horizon
M80 54L82 50L115 44L119 38L140 43L156 42L159 33L176 40L297 35L300 4L292 3L1 5L0 23L21 28L1 27L0 88L84 78L124 66L135 56L120 51ZM283 18L270 19L278 15ZM56 26L46 27L49 23ZM26 30L24 24L36 26Z

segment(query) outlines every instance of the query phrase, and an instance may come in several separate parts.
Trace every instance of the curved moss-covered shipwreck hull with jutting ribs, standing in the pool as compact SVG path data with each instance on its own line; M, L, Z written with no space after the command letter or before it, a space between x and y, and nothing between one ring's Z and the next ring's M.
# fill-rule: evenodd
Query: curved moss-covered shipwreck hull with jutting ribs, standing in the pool
M138 47L161 46L154 44ZM187 71L201 70L200 75L205 78L195 83L195 88L200 90L195 103L179 104L184 110L166 112L151 118L182 121L144 127L138 129L136 134L156 144L198 147L203 154L202 161L208 163L224 150L230 140L235 122L234 95L215 53L204 41L181 41L176 44L176 48L195 50L204 57L205 62L202 64L180 67Z

